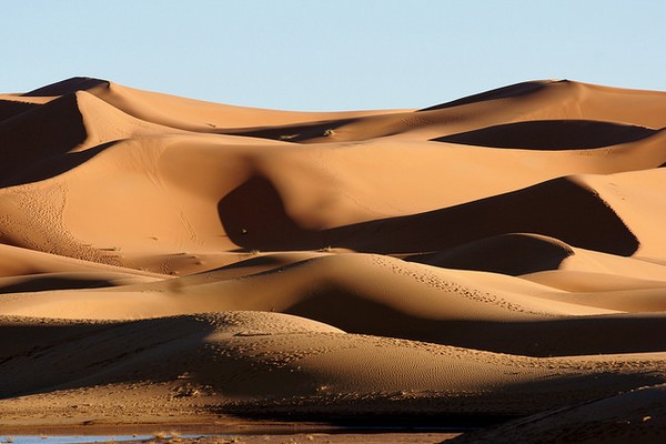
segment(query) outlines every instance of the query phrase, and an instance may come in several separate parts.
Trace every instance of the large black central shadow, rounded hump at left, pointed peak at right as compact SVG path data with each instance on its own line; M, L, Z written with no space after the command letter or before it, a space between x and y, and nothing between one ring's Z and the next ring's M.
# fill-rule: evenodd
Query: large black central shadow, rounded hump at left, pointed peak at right
M535 233L567 244L632 255L639 242L593 191L566 178L420 214L312 230L287 213L275 186L255 175L218 204L224 230L245 250L349 248L401 254L444 251L508 233Z

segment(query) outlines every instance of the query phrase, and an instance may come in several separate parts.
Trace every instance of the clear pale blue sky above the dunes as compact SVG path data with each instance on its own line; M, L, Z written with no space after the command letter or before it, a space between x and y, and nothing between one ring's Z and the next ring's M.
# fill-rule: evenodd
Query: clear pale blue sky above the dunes
M524 80L666 90L666 1L0 0L0 92L73 75L287 110Z

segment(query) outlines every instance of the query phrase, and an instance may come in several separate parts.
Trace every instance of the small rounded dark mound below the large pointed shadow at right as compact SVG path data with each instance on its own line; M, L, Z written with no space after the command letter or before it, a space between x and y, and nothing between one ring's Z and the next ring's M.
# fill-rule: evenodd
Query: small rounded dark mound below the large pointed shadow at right
M445 269L477 270L517 276L556 270L573 255L573 249L553 238L537 234L503 234L436 253L405 258Z

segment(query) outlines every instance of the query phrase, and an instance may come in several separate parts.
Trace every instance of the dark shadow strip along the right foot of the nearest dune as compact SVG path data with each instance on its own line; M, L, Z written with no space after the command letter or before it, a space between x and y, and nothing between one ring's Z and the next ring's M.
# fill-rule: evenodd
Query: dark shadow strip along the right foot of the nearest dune
M401 396L401 393L375 393L366 398L342 395L329 400L321 396L300 396L213 405L211 411L252 420L312 422L354 427L357 432L376 433L382 428L470 432L549 408L659 384L663 381L663 376L657 374L562 374L551 376L545 389L543 381L506 382L503 387L495 387L482 394L433 393L431 396L406 397Z

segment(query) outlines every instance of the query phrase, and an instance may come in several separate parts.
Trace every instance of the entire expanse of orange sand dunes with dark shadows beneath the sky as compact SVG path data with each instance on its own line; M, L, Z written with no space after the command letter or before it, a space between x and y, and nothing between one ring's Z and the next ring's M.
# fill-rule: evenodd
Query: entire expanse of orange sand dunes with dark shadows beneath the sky
M664 92L572 81L320 113L0 94L0 431L633 414L666 383L665 127Z

